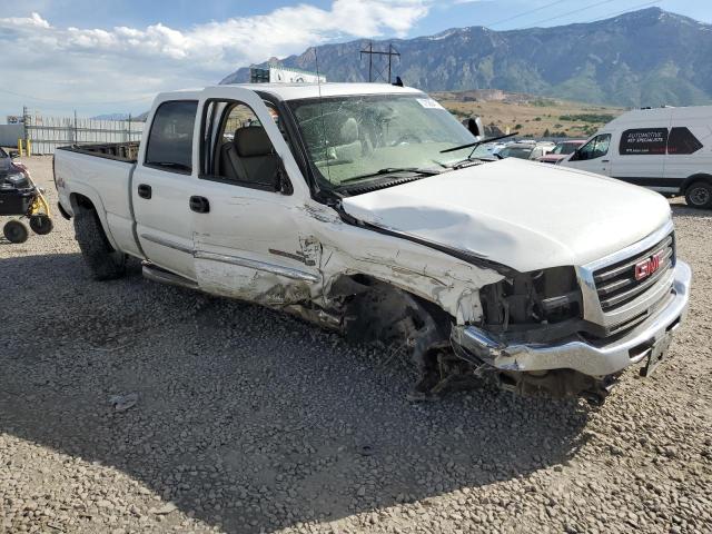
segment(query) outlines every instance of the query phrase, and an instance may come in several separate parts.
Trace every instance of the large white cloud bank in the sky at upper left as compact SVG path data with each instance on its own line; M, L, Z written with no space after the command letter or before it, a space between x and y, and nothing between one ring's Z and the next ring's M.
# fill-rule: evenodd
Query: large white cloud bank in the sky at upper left
M16 113L22 103L72 108L62 101L76 102L80 111L91 113L86 102L150 99L160 90L215 83L237 67L336 39L403 37L431 4L432 0L335 0L329 9L320 9L300 3L185 30L161 23L58 28L39 13L0 18L0 89L43 99L23 102L0 92L0 111Z

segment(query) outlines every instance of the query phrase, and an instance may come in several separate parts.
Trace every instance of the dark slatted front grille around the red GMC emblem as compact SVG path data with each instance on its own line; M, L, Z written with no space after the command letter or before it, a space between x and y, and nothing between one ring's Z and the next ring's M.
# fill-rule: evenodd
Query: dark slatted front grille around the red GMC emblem
M661 253L660 267L651 276L641 280L635 279L635 266ZM601 300L601 309L612 312L643 295L662 279L675 263L675 239L670 234L657 245L636 254L635 256L607 265L594 271L593 279Z

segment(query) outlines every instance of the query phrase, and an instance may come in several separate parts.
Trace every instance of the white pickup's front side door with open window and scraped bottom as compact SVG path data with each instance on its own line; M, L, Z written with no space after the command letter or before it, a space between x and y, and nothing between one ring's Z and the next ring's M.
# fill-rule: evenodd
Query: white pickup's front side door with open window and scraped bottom
M305 300L320 287L320 247L280 118L251 90L206 93L198 177L205 209L192 214L198 284L265 305Z

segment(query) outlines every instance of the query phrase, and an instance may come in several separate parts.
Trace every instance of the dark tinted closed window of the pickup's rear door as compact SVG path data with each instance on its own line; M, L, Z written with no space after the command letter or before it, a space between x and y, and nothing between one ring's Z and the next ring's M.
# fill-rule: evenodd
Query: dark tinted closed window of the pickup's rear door
M145 165L161 169L192 171L192 128L198 102L164 102L156 110L148 136Z

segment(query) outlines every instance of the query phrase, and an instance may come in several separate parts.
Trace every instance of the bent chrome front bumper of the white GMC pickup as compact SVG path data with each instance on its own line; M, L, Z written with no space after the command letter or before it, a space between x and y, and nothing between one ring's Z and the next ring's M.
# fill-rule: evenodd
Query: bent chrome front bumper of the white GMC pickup
M617 373L645 358L653 345L675 330L688 313L692 270L678 260L674 279L665 306L653 317L610 344L571 337L553 344L505 344L474 326L452 330L452 342L474 360L500 370L542 372L574 369L584 375L602 377ZM462 355L462 354L461 354ZM469 359L469 358L468 358Z

